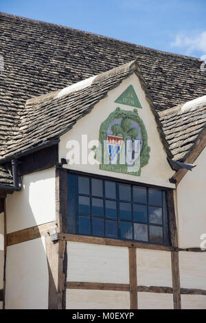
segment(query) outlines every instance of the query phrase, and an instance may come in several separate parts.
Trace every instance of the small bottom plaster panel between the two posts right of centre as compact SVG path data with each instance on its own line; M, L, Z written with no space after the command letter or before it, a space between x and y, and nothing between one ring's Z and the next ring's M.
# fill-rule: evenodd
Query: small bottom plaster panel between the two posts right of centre
M138 309L173 309L173 295L166 293L137 293Z

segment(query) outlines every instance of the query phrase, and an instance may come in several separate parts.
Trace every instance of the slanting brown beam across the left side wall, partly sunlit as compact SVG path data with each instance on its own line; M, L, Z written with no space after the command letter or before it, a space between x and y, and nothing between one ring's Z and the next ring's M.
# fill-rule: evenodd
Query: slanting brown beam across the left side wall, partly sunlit
M11 232L6 235L6 245L16 245L16 243L41 238L41 236L45 236L47 232L54 232L55 228L56 223L52 221L42 225L36 225L35 227L28 227L27 229Z

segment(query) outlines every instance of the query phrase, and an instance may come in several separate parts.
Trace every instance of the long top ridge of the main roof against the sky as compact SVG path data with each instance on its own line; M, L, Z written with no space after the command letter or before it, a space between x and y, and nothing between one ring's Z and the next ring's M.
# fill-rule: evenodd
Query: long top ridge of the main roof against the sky
M118 43L124 43L124 44L133 45L135 47L139 47L139 48L142 48L142 49L158 52L159 54L174 56L176 58L184 58L186 60L199 60L199 61L202 61L201 58L197 58L197 57L193 57L193 56L186 56L186 55L181 55L181 54L176 54L176 53L171 53L171 52L165 52L165 51L161 51L160 49L146 47L144 45L138 45L138 44L135 44L135 43L130 43L128 41L122 41L121 39L117 39L117 38L113 38L113 37L109 37L109 36L104 36L104 35L101 35L101 34L95 34L93 32L87 32L85 30L79 30L79 29L76 29L76 28L73 28L73 27L68 27L68 26L65 26L65 25L58 25L58 23L49 23L47 21L41 21L41 20L36 20L36 19L27 18L27 17L23 17L23 16L17 16L15 14L8 14L6 12L0 12L0 16L10 17L10 18L13 18L13 19L17 18L17 19L19 19L21 21L28 21L30 23L41 23L42 25L49 25L49 26L52 25L54 27L65 28L67 30L73 30L73 31L76 31L76 32L80 32L82 34L88 34L89 36L96 36L96 37L99 37L99 38L104 38L104 39L106 39L108 41L115 41L115 42L118 42Z

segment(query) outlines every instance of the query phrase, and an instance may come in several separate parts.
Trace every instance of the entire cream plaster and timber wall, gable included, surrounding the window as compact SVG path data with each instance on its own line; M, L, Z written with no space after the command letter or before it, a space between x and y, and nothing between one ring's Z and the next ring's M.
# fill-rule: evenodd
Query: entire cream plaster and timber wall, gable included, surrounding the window
M133 110L115 103L130 84L143 107L138 113L148 132L151 148L148 165L141 169L139 177L106 172L98 164L69 164L63 166L66 169L50 168L23 176L23 189L6 199L5 308L206 308L206 253L201 252L199 240L206 227L203 204L206 151L198 157L198 166L187 172L177 186L174 194L177 223L173 193L167 192L171 247L67 234L68 168L174 188L169 181L174 171L166 160L155 118L135 75L110 91L91 113L60 138L59 161L67 157L68 140L81 144L81 134L87 134L88 140L97 140L102 120L116 107ZM194 247L198 248L196 252L185 249ZM0 284L1 280L0 272Z

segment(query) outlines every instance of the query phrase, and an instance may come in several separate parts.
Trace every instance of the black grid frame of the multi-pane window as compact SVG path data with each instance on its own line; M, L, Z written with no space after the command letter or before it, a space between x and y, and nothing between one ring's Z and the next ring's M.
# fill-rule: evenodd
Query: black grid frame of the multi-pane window
M86 215L82 215L82 216L89 216L90 219L95 218L95 219L104 219L104 236L100 236L100 235L94 235L92 233L92 228L91 228L91 234L84 234L84 233L79 233L78 232L78 176L80 177L87 177L89 178L89 186L90 186L90 192L89 194L80 194L82 196L88 196L90 201L92 199L92 197L94 198L100 198L103 200L103 205L104 205L104 216L98 216L95 215L93 216L90 212L90 214L86 214ZM92 179L100 179L103 182L103 197L99 197L92 194L91 192L91 181ZM113 181L115 183L115 187L116 187L116 199L110 199L108 197L105 197L105 181ZM133 194L133 186L140 186L140 187L144 187L146 188L146 192L147 192L147 203L135 203L134 201L122 201L119 200L119 188L118 186L121 184L127 184L129 186L131 186L131 192ZM161 205L152 205L150 203L148 203L148 192L150 189L158 189L161 190L161 197L162 197L162 204ZM137 243L147 243L147 244L152 244L152 245L165 245L165 246L170 246L171 242L170 242L170 230L169 230L169 225L168 225L168 207L167 207L167 199L166 199L166 191L168 190L168 188L163 188L160 186L152 186L152 185L148 185L145 183L140 183L140 182L136 182L136 181L129 181L129 180L124 180L124 179L117 179L115 177L105 177L102 175L95 175L95 174L90 174L90 173L86 173L86 172L80 172L80 171L68 171L68 198L67 198L67 206L68 206L68 221L67 221L67 233L69 234L77 234L77 235L81 235L81 236L94 236L94 237L98 237L98 238L114 238L114 239L118 239L121 241L132 241L132 242L137 242ZM132 197L133 198L133 197ZM106 214L105 214L105 201L106 200L111 200L111 201L116 201L117 203L117 220L113 220L113 219L108 219L106 218ZM133 238L122 238L121 236L119 236L119 203L131 203L131 207L132 207L132 220L126 220L126 222L128 223L132 223L133 226ZM133 205L146 205L147 207L147 214L148 214L148 208L149 207L159 207L162 210L162 225L159 224L155 224L155 223L149 223L149 214L148 214L148 221L147 222L141 222L141 221L134 221L134 216L133 216ZM91 203L90 203L90 209L91 209ZM106 220L108 221L116 221L117 222L117 237L110 237L110 236L106 236L105 235L105 223ZM90 220L90 225L91 225L91 221ZM124 222L124 220L123 220ZM146 224L148 226L148 241L143 241L143 240L136 240L134 238L134 223L140 223L140 224ZM150 241L150 235L149 235L149 230L150 230L150 226L157 226L157 227L162 227L163 230L163 242L162 243L158 243L158 242L152 242Z

